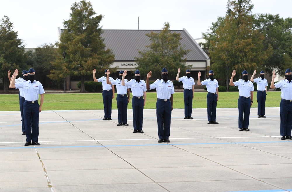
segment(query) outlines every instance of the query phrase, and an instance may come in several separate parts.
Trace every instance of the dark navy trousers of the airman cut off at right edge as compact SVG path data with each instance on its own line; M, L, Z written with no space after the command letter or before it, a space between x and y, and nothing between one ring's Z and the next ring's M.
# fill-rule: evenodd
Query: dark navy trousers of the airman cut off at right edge
M280 132L282 136L291 135L292 102L282 99L280 102Z

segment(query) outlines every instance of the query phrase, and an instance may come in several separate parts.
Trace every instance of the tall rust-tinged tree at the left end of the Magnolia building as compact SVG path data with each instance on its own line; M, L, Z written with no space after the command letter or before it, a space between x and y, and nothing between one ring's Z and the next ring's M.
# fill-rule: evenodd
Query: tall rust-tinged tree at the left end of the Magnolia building
M50 78L60 79L67 75L80 76L84 92L85 75L92 74L94 68L105 71L114 62L114 54L105 49L101 38L100 21L103 16L96 15L90 2L75 2L71 6L70 19L64 21L64 30L58 44L58 56L53 62ZM62 53L66 52L65 61Z

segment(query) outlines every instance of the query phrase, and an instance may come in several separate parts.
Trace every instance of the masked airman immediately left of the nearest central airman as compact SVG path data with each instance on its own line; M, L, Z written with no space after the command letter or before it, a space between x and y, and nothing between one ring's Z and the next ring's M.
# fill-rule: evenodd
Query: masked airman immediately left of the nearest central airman
M133 108L133 133L144 133L143 128L143 110L146 102L146 83L141 80L141 73L137 69L135 71L135 79L125 82L127 71L124 71L122 77L122 85L131 87L132 91L132 108Z

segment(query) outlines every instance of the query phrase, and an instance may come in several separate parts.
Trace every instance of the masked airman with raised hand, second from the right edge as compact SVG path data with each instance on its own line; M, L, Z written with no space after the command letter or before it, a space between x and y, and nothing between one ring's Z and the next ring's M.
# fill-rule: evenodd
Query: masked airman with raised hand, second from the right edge
M253 78L254 75L256 75L256 70L253 72L253 75L251 76L251 82L255 82L258 87L258 92L256 94L256 100L258 102L258 118L266 117L265 105L266 105L268 81L265 79L264 71L261 71L260 77L256 79Z

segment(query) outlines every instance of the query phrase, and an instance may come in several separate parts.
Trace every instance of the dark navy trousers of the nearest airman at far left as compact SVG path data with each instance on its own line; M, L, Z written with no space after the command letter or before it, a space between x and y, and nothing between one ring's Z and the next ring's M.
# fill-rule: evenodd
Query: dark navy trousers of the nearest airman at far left
M38 142L39 103L37 101L35 101L35 103L29 103L25 101L23 104L23 117L25 119L24 124L25 124L26 142Z

